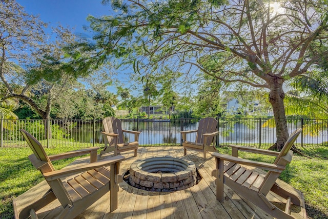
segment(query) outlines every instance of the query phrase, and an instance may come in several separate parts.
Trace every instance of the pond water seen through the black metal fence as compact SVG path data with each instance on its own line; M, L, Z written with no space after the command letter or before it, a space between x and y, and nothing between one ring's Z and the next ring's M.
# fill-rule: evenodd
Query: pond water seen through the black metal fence
M195 122L195 121L194 121ZM85 123L75 127L71 131L69 138L75 142L84 143L104 143L101 131L101 121L96 123ZM183 125L183 130L195 130L198 128L198 123L189 123ZM139 145L180 145L181 143L181 127L180 123L172 123L169 121L133 121L122 120L122 129L141 131L139 135ZM292 132L296 127L289 127ZM259 123L253 125L252 128L242 123L220 123L218 128L220 134L218 135L217 144L274 144L276 141L275 128L262 127ZM196 133L187 135L187 141L195 141ZM313 142L312 136L303 136L303 140L298 138L299 143ZM326 138L326 133L323 134L322 142ZM125 133L126 142L134 141L134 134ZM318 139L316 139L318 141ZM318 143L317 143L318 144Z

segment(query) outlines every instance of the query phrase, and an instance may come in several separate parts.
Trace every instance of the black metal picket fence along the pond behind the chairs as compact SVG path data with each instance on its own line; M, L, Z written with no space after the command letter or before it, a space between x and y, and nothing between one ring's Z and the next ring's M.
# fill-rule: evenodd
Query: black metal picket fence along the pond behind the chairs
M219 136L216 145L238 144L267 148L276 141L276 129L273 118L216 118ZM122 128L141 131L139 145L166 146L180 145L183 130L198 128L198 118L157 119L157 120L121 120ZM45 147L85 148L103 146L100 134L101 120L1 120L1 147L24 147L19 129L25 129L35 136ZM288 119L289 132L302 127L303 132L296 144L327 145L328 120L309 120L304 118ZM188 141L194 140L196 134L189 134ZM133 140L127 134L127 141Z

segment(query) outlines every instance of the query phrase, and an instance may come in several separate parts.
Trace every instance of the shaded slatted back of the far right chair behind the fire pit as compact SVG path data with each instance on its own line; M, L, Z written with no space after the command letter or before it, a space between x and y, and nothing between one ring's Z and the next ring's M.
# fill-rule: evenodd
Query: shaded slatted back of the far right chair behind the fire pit
M215 118L207 117L202 118L199 121L198 131L196 135L196 143L203 144L204 136L206 133L213 133L217 130L217 121ZM207 145L210 145L213 142L214 136L211 136L207 139Z

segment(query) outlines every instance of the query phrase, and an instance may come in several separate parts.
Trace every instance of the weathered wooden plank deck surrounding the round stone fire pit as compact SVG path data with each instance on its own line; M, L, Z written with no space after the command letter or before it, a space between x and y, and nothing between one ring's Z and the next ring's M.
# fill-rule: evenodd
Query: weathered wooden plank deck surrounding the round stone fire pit
M129 186L123 181L119 184L118 208L115 211L110 213L109 193L107 193L76 218L273 218L245 198L238 196L227 186L224 186L224 202L218 202L215 195L215 178L211 176L215 167L214 158L208 154L208 159L204 162L201 152L188 151L187 154L183 156L182 147L139 147L137 157L133 157L133 151L121 153L126 156L126 160L120 166L120 174L124 174L130 164L139 158L171 155L193 161L202 180L189 189L175 192L148 192ZM103 155L100 159L106 159L108 156ZM86 159L80 159L72 165L84 162ZM47 188L49 188L48 184L43 181L15 198L15 214L31 203L31 198L34 198L35 194ZM302 206L292 205L291 214L295 218L306 218L304 197L301 192L299 195ZM270 198L275 204L285 203L283 198L275 194L270 194ZM46 206L47 208L36 213L39 218L54 218L56 212L61 210L58 206L60 206L59 202L54 201ZM281 209L284 209L283 204Z

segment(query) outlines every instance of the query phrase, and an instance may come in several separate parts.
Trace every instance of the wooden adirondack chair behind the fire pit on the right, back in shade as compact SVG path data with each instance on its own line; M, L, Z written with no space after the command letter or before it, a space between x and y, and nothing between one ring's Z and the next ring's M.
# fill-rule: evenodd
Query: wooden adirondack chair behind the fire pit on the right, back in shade
M181 131L184 154L187 155L187 149L202 151L205 160L207 151L217 151L215 147L211 145L214 141L214 136L219 133L216 126L217 121L215 118L207 117L199 121L197 130ZM187 134L195 132L197 132L195 142L187 141Z

